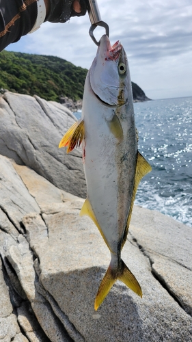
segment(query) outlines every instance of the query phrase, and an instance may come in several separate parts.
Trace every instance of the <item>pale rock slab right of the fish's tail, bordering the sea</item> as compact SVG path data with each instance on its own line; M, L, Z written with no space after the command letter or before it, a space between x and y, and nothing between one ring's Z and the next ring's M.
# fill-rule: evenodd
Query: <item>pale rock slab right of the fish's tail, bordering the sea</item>
M145 217L143 222L142 217ZM149 253L163 255L192 271L191 227L162 215L159 211L138 207L131 220L137 243ZM166 240L166 244L165 244Z

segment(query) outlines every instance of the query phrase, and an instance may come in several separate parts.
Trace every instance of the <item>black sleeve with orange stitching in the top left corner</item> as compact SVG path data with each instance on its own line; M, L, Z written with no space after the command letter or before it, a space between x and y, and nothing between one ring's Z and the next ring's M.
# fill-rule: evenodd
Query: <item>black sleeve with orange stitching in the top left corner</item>
M0 0L0 51L28 34L37 15L37 0Z

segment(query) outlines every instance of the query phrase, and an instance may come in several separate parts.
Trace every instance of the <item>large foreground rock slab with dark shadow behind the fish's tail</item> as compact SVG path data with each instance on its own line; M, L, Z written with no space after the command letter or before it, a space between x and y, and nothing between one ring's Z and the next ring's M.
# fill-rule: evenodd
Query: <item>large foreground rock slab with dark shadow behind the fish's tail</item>
M78 209L66 209L54 215L43 214L51 252L55 256L57 251L58 259L64 261L61 264L55 257L51 258L46 246L42 249L33 242L36 239L33 232L39 225L37 217L29 215L23 224L29 234L29 244L40 260L42 286L51 293L81 337L85 341L187 341L192 333L191 317L154 278L148 258L138 246L133 246L133 241L124 246L123 259L139 280L143 299L116 282L98 313L94 311L96 291L110 257L94 224L88 218L79 220L78 213ZM41 233L38 240L40 236Z

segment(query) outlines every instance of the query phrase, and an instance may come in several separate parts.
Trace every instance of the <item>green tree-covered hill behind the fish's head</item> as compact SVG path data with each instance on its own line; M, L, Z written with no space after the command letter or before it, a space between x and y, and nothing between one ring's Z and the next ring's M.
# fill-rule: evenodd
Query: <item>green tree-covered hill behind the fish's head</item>
M0 53L0 88L12 92L36 94L52 101L68 96L75 101L83 98L86 75L87 69L59 57L5 50ZM133 83L133 98L137 99L138 94L145 96Z

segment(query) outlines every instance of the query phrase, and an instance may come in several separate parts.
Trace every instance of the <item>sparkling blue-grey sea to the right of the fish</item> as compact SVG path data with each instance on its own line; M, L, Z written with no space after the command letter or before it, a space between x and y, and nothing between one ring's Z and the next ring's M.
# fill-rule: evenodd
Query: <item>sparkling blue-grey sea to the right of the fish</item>
M138 149L152 166L135 205L192 226L192 96L134 103L134 108Z

